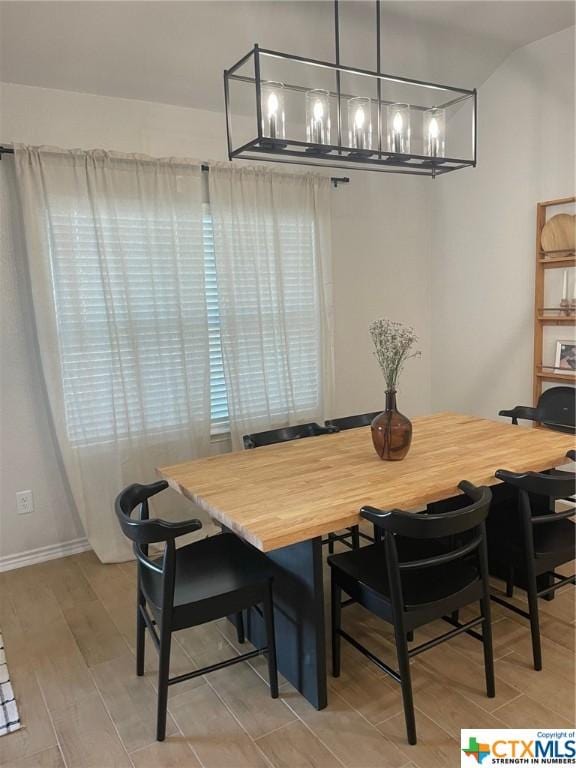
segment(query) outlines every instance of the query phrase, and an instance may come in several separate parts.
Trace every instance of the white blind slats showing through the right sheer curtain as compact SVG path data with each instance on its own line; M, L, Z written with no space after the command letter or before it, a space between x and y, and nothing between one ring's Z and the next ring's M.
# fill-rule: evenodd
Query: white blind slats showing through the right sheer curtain
M234 271L230 301L228 292L221 300L238 389L254 418L315 418L322 365L314 221L290 212L261 216L236 222L234 237L250 262Z

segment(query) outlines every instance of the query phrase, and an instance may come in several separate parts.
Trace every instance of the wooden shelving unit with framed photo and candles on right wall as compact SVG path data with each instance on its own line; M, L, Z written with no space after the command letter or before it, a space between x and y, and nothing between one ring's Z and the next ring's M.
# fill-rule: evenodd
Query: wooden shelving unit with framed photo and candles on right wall
M548 210L563 205L576 203L576 197L559 200L547 200L538 203L536 208L536 280L534 291L534 405L542 394L543 384L558 382L576 384L576 374L560 371L553 366L544 365L543 341L544 327L547 325L574 326L576 317L564 314L560 308L544 306L544 280L548 269L576 267L576 253L567 251L543 251L541 246L542 229L548 219Z

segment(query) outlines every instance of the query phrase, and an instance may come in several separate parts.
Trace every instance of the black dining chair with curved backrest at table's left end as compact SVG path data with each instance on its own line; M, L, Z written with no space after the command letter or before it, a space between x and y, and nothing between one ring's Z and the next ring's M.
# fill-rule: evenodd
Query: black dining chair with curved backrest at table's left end
M129 485L116 498L116 515L124 534L133 542L138 563L136 609L136 674L144 674L145 630L159 654L156 738L164 741L168 686L246 661L268 656L272 698L278 698L272 571L267 558L230 533L212 536L176 549L179 536L202 528L199 520L167 522L149 519L148 499L168 488L165 480L150 485ZM133 511L139 507L139 519ZM150 544L165 543L160 557L149 557ZM244 642L242 611L262 605L266 647L226 661L170 677L172 633L234 615L238 641Z

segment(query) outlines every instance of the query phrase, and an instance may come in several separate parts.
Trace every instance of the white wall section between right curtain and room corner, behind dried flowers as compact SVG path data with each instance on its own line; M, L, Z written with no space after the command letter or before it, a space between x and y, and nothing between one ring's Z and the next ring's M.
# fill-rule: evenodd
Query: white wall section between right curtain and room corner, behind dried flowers
M409 323L422 357L408 361L398 407L429 412L431 389L431 223L433 182L359 172L334 196L336 411L377 410L384 384L367 331L378 317Z

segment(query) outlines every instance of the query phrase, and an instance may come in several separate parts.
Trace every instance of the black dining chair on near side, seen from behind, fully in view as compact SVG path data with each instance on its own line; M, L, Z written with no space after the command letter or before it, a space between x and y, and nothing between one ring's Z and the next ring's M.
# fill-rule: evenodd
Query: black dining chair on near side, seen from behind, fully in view
M416 744L410 659L463 632L484 645L486 690L495 696L490 586L485 520L492 494L488 488L462 481L460 509L438 515L383 512L364 507L360 514L382 531L381 543L328 558L332 583L332 672L340 675L340 638L363 653L402 687L409 744ZM349 600L342 602L342 591ZM479 602L480 615L460 623L456 611ZM392 624L398 671L342 629L341 609L358 603ZM409 648L408 635L417 627L444 619L453 629ZM482 627L482 633L476 627Z

